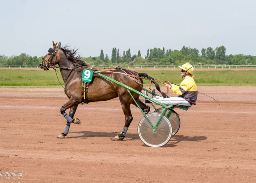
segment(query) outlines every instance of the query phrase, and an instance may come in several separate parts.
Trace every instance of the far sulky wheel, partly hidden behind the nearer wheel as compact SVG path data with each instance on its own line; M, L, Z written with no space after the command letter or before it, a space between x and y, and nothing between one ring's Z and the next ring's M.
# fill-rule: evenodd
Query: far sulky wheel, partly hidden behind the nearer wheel
M155 112L162 113L164 108L159 108ZM167 109L165 116L170 120L172 127L173 127L173 134L174 136L180 129L181 121L179 115L173 109Z

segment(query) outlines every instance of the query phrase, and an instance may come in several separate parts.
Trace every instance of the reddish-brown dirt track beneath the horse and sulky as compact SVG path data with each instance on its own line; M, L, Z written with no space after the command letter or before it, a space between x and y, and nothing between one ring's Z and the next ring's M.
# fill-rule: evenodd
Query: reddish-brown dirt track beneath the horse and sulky
M179 132L156 148L139 139L134 106L125 140L111 141L124 126L118 99L80 105L82 125L58 139L62 88L0 88L0 182L255 182L256 87L198 91L220 105L199 94L196 106L176 110Z

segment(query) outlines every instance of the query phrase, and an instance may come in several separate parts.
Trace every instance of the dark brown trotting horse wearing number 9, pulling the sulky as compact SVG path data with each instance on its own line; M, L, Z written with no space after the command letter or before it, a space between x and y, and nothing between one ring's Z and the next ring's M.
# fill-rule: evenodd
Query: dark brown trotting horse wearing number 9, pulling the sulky
M57 45L58 44L58 45ZM77 55L77 49L69 49L69 46L61 47L61 42L56 44L53 41L53 48L48 50L48 53L42 59L39 64L40 68L43 70L49 70L49 68L60 68L61 76L65 83L64 92L69 100L61 107L61 114L66 119L66 126L64 132L58 135L58 138L65 138L68 134L70 124L81 124L78 118L74 118L75 111L79 104L84 99L84 88L82 87L82 71L83 69L89 69L89 64L85 63L80 59L80 55ZM58 64L58 66L56 66ZM107 75L125 85L141 91L143 86L142 76L150 80L154 80L152 77L148 76L146 73L137 73L128 69L116 68L111 70L111 72L103 71L101 74ZM131 74L134 77L131 77ZM137 78L135 78L137 77ZM138 79L139 78L139 79ZM155 82L153 82L155 83ZM159 86L155 83L157 89ZM125 125L119 135L113 137L113 140L123 140L127 133L127 130L133 120L130 105L133 104L138 107L135 103L140 106L140 108L145 112L149 113L150 107L144 104L139 99L139 94L132 92L131 95L126 88L107 80L103 77L93 74L92 81L88 83L87 91L87 102L96 101L107 101L113 98L119 98L122 106L122 110L125 116ZM65 111L69 110L67 115Z

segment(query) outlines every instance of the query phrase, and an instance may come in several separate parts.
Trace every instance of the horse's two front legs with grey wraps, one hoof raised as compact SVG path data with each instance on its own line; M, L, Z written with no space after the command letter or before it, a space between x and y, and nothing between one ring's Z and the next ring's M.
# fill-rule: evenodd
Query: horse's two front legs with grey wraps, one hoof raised
M67 121L66 121L66 126L64 129L64 132L62 134L58 135L58 138L65 138L65 136L68 134L70 124L74 122L73 117L74 117L74 114L75 114L78 104L79 103L77 103L76 101L69 99L69 101L64 106L61 107L61 114L64 116L64 118ZM66 111L66 109L69 109L69 108L70 108L69 115L67 115L65 113L65 111ZM76 124L81 124L81 123L79 120L77 120Z

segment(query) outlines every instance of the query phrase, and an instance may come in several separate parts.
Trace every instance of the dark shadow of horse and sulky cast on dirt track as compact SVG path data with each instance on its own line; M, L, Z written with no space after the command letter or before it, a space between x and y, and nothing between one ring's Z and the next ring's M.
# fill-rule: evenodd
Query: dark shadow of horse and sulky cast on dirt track
M115 136L117 136L119 134L119 132L93 132L93 131L83 131L83 132L69 132L70 134L81 134L80 136L76 136L76 137L66 137L66 138L89 138L89 137L109 137L109 138L113 138ZM123 139L123 141L125 140L138 140L140 139L138 134L127 134L126 138ZM205 136L183 136L183 135L174 135L172 136L172 138L170 139L170 141L162 146L162 147L174 147L177 146L176 144L178 144L181 141L201 141L201 140L206 140L207 137ZM143 146L147 146L144 145Z

